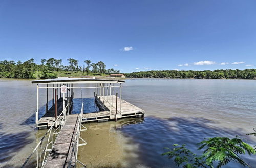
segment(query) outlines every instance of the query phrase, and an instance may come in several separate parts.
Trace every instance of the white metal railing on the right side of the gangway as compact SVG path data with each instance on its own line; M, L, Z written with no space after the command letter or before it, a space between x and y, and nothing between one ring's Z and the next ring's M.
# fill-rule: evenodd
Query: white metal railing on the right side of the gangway
M82 125L82 120L83 120L83 103L82 103L81 112L80 112L80 114L78 116L78 126L77 126L77 130L76 130L76 135L72 139L72 142L71 142L72 153L71 153L71 157L70 157L70 160L69 160L69 167L76 167L78 163L81 164L83 167L86 167L85 164L83 164L81 161L79 161L77 159L78 147L87 144L87 142L84 141L80 137L80 132L87 130L87 128ZM80 143L80 142L82 142L82 143Z

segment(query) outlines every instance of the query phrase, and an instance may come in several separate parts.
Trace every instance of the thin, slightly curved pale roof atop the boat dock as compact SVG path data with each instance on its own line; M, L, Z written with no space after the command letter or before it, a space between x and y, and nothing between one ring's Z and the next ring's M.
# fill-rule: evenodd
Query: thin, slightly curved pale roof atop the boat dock
M88 83L124 83L124 80L118 79L92 79L92 78L57 78L45 80L32 80L33 84L88 84Z

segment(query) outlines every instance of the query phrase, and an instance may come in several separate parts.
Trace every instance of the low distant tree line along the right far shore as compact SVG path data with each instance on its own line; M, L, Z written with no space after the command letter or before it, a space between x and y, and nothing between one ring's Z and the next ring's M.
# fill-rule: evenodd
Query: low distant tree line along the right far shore
M198 78L198 79L255 79L256 69L245 70L205 70L205 71L141 71L125 74L126 77L131 78Z

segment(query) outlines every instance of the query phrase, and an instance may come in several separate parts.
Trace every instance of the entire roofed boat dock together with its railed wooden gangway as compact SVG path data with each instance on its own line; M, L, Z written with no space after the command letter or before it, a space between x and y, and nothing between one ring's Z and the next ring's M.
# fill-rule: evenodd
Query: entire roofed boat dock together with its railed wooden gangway
M122 99L123 80L63 78L34 80L32 83L37 85L36 126L38 129L49 128L49 130L37 143L22 167L31 167L29 165L31 162L31 165L36 163L36 167L77 167L78 164L86 167L76 157L78 147L87 144L80 137L80 131L87 130L82 123L144 117L142 109ZM42 89L47 95L46 113L39 119L39 90ZM49 89L53 91L53 106L48 110ZM84 106L87 104L82 103L80 114L72 114L74 89L80 90L81 98L83 98L82 89L94 89L95 102L100 111L84 113ZM118 94L120 97L117 96Z

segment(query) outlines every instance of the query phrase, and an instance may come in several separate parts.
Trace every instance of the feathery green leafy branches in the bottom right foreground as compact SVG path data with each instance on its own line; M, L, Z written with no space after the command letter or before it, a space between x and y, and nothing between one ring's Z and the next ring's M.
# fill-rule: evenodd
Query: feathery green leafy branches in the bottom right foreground
M241 158L241 155L256 154L256 150L239 137L233 139L227 137L208 138L199 144L201 146L198 150L206 148L201 156L193 154L185 148L185 145L179 146L177 144L173 145L175 146L173 149L166 148L169 151L162 155L168 155L169 158L175 157L176 165L184 165L183 167L198 167L200 164L202 167L212 167L214 162L218 163L217 167L222 167L230 161L251 167Z

